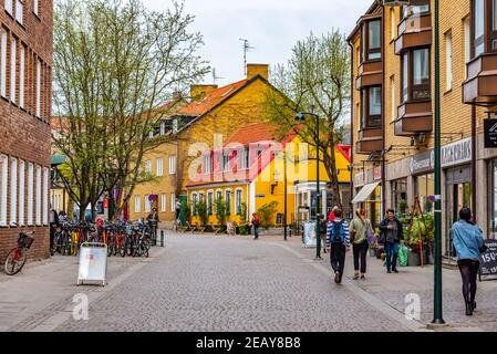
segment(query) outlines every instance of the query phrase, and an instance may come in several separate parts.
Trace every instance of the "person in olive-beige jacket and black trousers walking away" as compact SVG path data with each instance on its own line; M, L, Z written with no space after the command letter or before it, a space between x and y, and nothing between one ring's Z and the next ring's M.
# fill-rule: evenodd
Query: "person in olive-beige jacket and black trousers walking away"
M366 254L370 243L367 242L367 230L371 230L371 221L365 217L365 210L360 208L355 211L355 218L350 226L352 251L354 254L354 278L365 280Z

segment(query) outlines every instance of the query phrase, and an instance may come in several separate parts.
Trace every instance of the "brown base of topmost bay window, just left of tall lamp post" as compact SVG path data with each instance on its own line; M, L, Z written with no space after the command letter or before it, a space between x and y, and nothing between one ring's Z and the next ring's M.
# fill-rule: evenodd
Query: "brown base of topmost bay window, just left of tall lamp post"
M432 15L429 13L408 17L398 23L395 54L416 46L432 45Z

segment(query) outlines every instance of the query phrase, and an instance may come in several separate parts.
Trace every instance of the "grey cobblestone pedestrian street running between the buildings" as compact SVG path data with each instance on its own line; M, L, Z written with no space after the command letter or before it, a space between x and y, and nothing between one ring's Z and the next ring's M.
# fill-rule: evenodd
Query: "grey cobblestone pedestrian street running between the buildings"
M253 241L167 233L166 241L149 259L110 258L105 288L75 287L77 261L66 257L29 264L17 278L2 274L0 319L8 320L2 330L392 332L425 331L431 321L431 267L384 274L380 262L370 259L367 280L358 282L350 279L348 259L346 277L336 285L328 254L315 261L315 250L304 249L298 238L283 242L279 237ZM30 277L40 278L41 271L49 272L51 281L30 292L35 287ZM495 330L494 283L480 285L482 310L466 319L457 277L455 271L444 272L444 310L453 325L447 330ZM420 322L404 316L404 299L411 292L422 300ZM89 295L89 321L72 316L76 293ZM29 301L32 296L34 303Z

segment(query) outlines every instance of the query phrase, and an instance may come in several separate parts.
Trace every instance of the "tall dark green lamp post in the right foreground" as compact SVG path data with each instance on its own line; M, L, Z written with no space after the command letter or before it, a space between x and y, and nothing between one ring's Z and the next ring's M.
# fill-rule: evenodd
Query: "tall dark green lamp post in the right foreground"
M433 303L433 321L434 325L444 324L442 316L442 158L441 158L441 54L439 54L439 0L434 0L433 15L434 15L434 50L435 50L435 73L434 73L434 131L435 131L435 264L434 264L434 303ZM398 6L408 4L408 1L383 0L383 6Z

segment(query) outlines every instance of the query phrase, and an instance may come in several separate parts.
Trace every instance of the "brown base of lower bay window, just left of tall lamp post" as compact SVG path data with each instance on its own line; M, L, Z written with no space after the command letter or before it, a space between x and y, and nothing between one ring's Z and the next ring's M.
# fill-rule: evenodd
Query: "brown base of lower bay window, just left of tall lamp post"
M433 129L432 102L406 102L397 108L395 135L412 136Z

